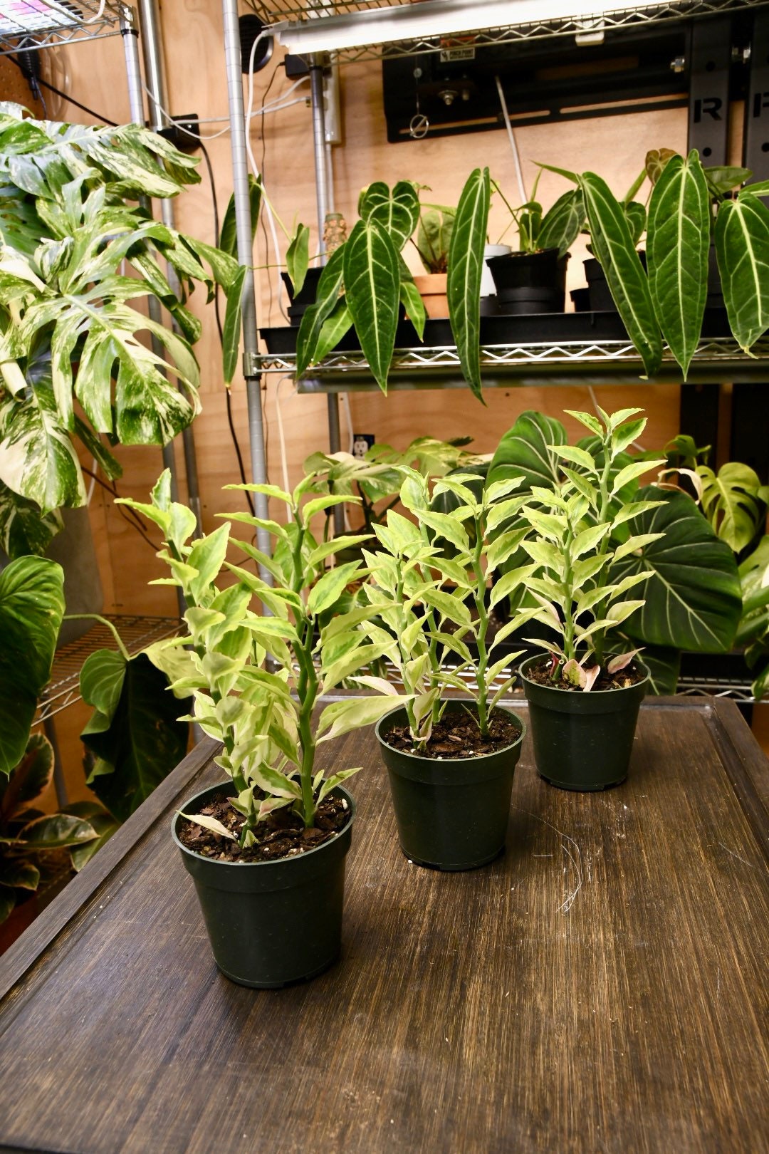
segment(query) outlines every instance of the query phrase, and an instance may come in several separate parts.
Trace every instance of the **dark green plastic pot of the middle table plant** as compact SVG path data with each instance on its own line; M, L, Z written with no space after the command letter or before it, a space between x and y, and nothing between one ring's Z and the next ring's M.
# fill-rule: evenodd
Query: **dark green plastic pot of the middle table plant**
M450 702L447 713L458 713ZM475 869L493 861L505 846L513 771L526 727L517 713L503 710L521 729L512 745L482 757L421 757L389 745L393 726L408 725L405 709L387 713L376 726L387 767L400 848L417 865L442 870Z

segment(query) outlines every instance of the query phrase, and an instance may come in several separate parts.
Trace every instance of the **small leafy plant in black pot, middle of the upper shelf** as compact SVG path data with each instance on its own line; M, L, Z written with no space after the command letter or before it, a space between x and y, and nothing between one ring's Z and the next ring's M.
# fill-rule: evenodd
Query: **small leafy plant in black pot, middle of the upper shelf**
M495 182L511 222L518 226L519 238L517 253L487 258L500 313L564 312L568 249L582 227L585 207L580 190L575 189L564 193L543 215L536 200L541 171L531 200L519 209L512 208Z

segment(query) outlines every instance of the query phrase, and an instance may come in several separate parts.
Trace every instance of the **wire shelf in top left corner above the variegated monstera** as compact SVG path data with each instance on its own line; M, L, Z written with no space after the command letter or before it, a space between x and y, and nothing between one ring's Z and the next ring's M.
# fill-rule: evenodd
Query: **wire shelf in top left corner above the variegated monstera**
M134 10L120 0L0 0L0 55L115 36Z

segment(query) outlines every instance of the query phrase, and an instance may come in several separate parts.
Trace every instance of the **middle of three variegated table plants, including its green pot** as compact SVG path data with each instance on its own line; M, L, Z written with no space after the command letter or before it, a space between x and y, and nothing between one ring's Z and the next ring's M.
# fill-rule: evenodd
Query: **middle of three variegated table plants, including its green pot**
M507 574L488 599L488 579L523 535L489 542L510 512L505 499L515 480L485 493L481 487L478 495L474 474L444 477L430 492L424 477L405 473L400 500L416 523L391 510L386 525L375 526L378 552L364 552L371 584L363 592L371 610L363 628L407 694L376 733L406 856L443 870L473 869L504 847L525 733L520 718L499 705L514 679L495 685L511 659L498 660L493 652L504 630L487 637L489 610L534 567ZM458 499L451 514L433 507L446 493ZM447 689L469 696L469 703L447 699Z

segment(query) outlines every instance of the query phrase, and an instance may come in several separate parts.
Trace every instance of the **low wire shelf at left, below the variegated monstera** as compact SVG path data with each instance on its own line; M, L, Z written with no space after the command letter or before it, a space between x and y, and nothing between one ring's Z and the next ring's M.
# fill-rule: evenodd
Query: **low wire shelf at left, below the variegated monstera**
M173 637L181 628L181 622L176 617L141 617L130 614L105 614L105 617L113 623L131 655L152 642ZM48 718L55 717L56 713L78 702L80 672L85 658L96 650L115 647L115 639L107 627L101 622L95 622L93 627L77 640L56 650L51 681L40 698L35 724L47 721Z

